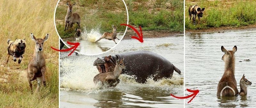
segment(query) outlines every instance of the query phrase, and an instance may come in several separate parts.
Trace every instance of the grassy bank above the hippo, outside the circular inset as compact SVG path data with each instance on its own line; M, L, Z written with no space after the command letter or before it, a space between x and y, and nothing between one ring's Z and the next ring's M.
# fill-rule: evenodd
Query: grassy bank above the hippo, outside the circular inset
M183 0L125 0L129 24L143 30L183 31Z

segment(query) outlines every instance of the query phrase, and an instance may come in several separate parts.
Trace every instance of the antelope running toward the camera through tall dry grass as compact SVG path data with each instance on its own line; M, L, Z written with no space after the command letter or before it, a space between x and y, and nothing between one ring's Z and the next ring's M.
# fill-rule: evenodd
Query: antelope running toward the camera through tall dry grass
M28 63L28 71L27 71L27 79L29 86L32 91L32 82L33 80L37 80L37 91L39 91L42 83L46 86L45 80L45 72L46 72L46 65L44 59L44 42L49 38L49 34L41 38L36 38L33 33L30 34L31 39L35 41L35 51L32 59Z

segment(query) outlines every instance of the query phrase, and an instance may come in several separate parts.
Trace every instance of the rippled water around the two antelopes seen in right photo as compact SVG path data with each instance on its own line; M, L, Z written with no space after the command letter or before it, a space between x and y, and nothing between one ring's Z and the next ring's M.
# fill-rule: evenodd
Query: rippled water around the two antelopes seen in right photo
M189 34L185 37L185 88L200 90L196 98L189 104L190 99L185 100L186 107L255 107L256 65L256 31L230 31L212 34ZM224 62L221 57L224 53L221 46L232 50L237 46L235 76L238 91L239 81L245 74L245 78L252 82L247 90L247 96L218 98L217 85L224 73ZM250 59L250 62L243 61ZM243 62L239 62L243 61ZM185 91L185 95L188 95Z

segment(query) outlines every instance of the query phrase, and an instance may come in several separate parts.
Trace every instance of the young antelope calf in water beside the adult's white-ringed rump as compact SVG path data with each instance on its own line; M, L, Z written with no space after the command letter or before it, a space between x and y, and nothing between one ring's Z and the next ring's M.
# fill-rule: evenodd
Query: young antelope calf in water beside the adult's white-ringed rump
M245 76L243 75L242 79L240 80L240 95L247 94L247 85L252 85L252 82L248 81Z

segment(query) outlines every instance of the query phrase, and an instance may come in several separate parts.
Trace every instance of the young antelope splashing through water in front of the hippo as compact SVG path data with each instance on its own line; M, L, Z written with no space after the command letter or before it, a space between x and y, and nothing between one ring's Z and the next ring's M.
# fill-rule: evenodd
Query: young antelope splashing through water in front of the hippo
M95 84L97 84L98 82L101 82L103 84L108 84L109 87L113 86L116 87L116 85L119 83L119 79L118 77L120 76L122 69L125 69L123 60L117 60L116 61L116 66L114 71L110 71L110 72L105 72L105 73L99 73L97 74L94 78L93 81Z

